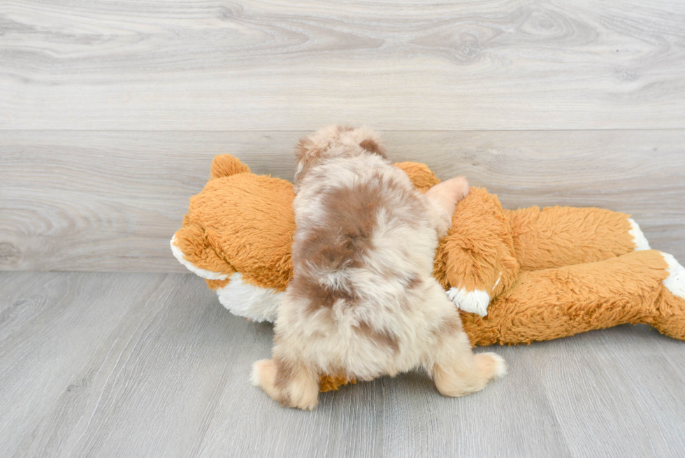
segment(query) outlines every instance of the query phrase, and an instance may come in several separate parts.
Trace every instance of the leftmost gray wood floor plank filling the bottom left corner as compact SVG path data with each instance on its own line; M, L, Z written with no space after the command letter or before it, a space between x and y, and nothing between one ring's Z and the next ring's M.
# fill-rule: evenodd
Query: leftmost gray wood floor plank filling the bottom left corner
M93 275L0 275L0 455L9 457L60 396L91 382L83 364L107 351L114 325L148 281L99 282ZM96 399L93 399L96 401ZM55 425L58 427L59 425ZM55 441L61 438L55 437ZM24 450L24 456L50 455Z

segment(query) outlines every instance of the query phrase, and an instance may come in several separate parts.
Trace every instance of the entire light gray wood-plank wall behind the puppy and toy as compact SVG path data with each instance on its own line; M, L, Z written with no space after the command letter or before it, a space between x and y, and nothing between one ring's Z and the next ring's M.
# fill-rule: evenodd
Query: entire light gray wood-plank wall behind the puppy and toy
M182 272L212 157L291 178L331 122L685 259L684 42L679 0L5 1L0 269Z

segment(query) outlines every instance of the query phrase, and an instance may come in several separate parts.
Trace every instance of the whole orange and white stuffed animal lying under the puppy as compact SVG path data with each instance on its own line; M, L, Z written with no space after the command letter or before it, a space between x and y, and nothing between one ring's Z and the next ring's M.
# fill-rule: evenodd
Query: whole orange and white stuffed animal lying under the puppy
M422 192L440 183L424 164L396 166ZM287 180L219 155L171 250L231 312L273 322L292 275L293 199ZM546 341L625 323L685 340L685 269L651 250L624 213L505 210L497 196L473 187L438 245L433 275L461 309L472 345ZM324 375L321 389L345 382Z

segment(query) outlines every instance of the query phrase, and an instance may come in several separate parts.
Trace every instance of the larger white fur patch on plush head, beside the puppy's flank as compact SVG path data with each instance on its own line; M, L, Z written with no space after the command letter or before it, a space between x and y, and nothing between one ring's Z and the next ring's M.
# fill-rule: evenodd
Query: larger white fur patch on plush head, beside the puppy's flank
M231 275L228 285L217 289L219 302L231 313L252 321L262 322L276 319L278 303L282 292L273 288L261 288L243 282L243 275Z

